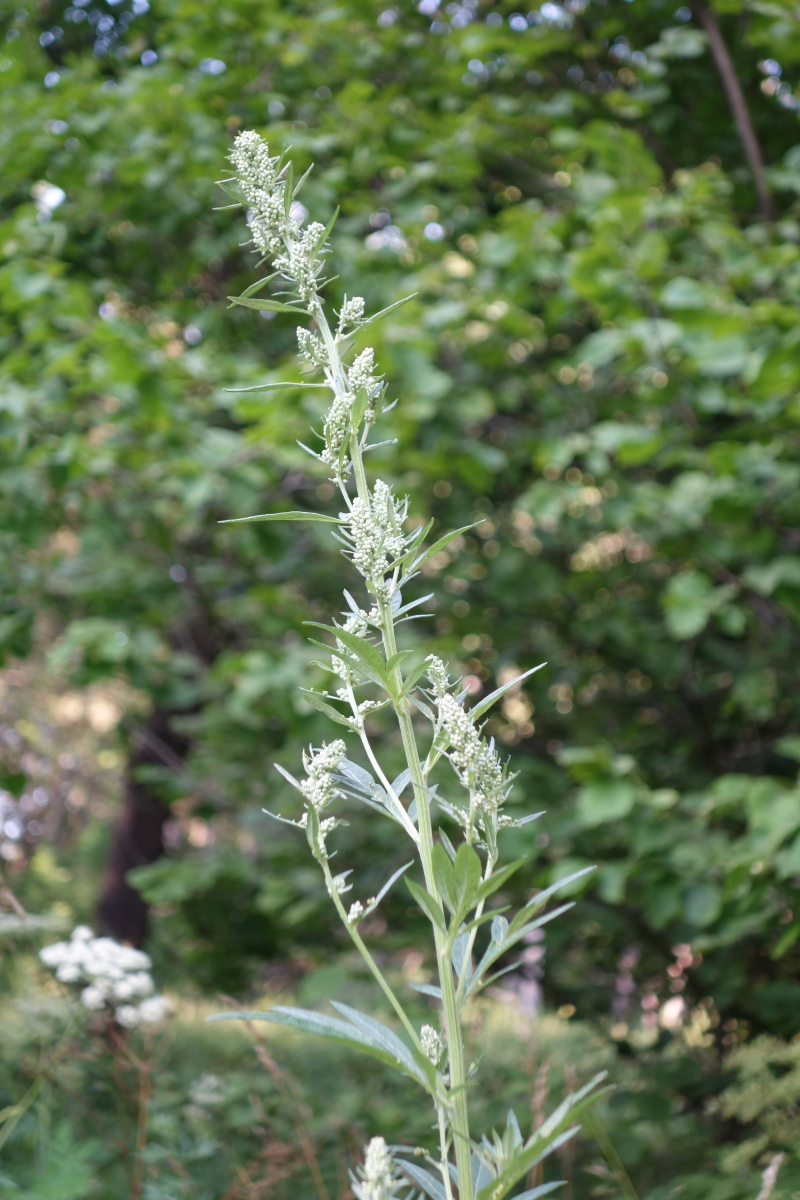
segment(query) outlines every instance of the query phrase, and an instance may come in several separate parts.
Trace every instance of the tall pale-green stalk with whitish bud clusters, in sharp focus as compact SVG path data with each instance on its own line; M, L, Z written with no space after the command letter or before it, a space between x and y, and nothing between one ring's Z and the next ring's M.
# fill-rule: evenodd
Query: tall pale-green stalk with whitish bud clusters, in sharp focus
M329 638L314 644L330 654L332 690L324 694L303 690L303 694L332 721L344 726L351 740L360 743L371 769L350 761L343 739L311 748L303 755L305 779L297 780L282 770L302 800L302 815L288 823L305 830L339 919L395 1010L402 1034L336 1002L332 1007L337 1016L282 1006L247 1016L344 1042L396 1068L429 1096L439 1133L437 1153L423 1159L427 1164L423 1166L419 1156L403 1158L403 1147L390 1148L381 1138L373 1139L365 1164L353 1180L362 1200L390 1200L419 1195L420 1190L432 1200L456 1196L501 1200L512 1194L531 1166L576 1133L577 1112L599 1094L597 1080L593 1080L567 1097L528 1139L523 1138L513 1114L505 1130L491 1139L479 1142L470 1129L469 1093L475 1068L464 1057L461 1025L464 1006L503 973L493 973L494 966L517 942L570 907L543 911L559 887L583 874L579 871L539 893L511 919L504 916L505 910L487 908L492 895L524 862L498 866L498 832L533 821L539 814L516 821L503 811L512 776L494 743L483 738L479 721L509 688L533 671L467 710L465 694L450 678L444 662L431 655L411 666L408 661L411 653L398 650L397 626L429 599L407 601L405 589L422 564L464 530L453 530L426 545L431 523L409 530L408 499L396 497L383 480L371 486L367 479L365 452L386 385L375 368L372 348L362 350L348 365L349 350L353 335L390 310L366 317L363 299L345 296L331 325L320 293L325 284L327 238L336 216L327 227L317 222L302 227L295 216L297 209L293 208L302 180L294 185L291 163L284 162L283 156L271 157L257 133L246 132L236 138L230 161L235 175L223 180L222 186L249 210L253 244L263 256L261 262L271 260L273 266L273 274L231 300L255 310L311 318L311 329L297 329L300 358L308 372L321 374L323 380L300 386L326 388L332 401L321 445L308 452L329 468L343 505L336 517L283 512L239 520L305 518L332 523L335 536L361 576L368 596L361 607L345 592L344 620L317 625ZM273 281L282 290L269 299L259 298L258 292ZM402 737L407 766L395 780L385 774L367 732L367 714L379 709L391 712ZM413 714L429 725L427 738L415 728ZM441 760L452 768L457 798L445 798L438 785L431 782L432 772ZM344 896L353 889L353 872L333 874L327 845L339 824L336 802L343 797L360 800L395 822L414 850L414 858L378 895L349 904ZM434 815L446 816L459 829L457 848L444 829L438 829L434 836ZM363 919L415 862L421 865L422 882L407 876L405 884L431 923L438 968L438 985L420 990L440 1006L440 1031L432 1025L416 1028L360 932ZM534 1200L554 1186L548 1183L521 1196Z

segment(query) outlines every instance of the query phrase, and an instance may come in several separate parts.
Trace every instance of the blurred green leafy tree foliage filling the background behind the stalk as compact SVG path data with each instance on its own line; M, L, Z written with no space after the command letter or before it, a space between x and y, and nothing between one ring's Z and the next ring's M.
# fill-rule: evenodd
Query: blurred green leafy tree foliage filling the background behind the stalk
M715 8L770 223L674 0L546 5L528 28L505 5L467 22L367 0L2 13L0 638L11 662L44 646L74 686L125 680L186 737L186 758L138 768L175 823L136 872L184 986L341 949L302 845L261 814L289 802L271 762L325 736L296 688L341 560L315 528L217 524L332 499L295 445L315 395L227 390L291 370L285 317L225 307L252 259L212 181L255 127L314 162L314 217L342 205L332 294L416 293L378 326L391 472L441 528L481 523L434 560L409 644L487 688L548 661L491 721L512 803L547 810L506 835L519 886L600 865L548 936L548 1003L650 1070L649 996L708 1000L717 1045L800 1028L800 24L784 0ZM24 767L2 752L10 787ZM339 852L365 894L399 865L363 821ZM59 864L36 869L48 853L10 862L14 889L90 917ZM702 1128L721 1078L686 1052L670 1086ZM662 1147L662 1182L709 1166L706 1133L680 1134L692 1164Z

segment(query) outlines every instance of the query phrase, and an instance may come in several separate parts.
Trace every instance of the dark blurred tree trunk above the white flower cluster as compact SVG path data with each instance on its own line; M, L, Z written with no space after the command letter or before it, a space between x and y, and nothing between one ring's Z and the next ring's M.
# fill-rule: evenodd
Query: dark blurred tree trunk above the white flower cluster
M152 764L180 767L188 740L170 728L174 713L156 708L137 734L125 778L125 796L120 818L106 868L103 892L97 906L102 928L120 942L140 946L148 931L148 905L130 883L126 874L133 866L145 866L161 858L164 850L164 822L169 808L156 790L136 778L137 768Z

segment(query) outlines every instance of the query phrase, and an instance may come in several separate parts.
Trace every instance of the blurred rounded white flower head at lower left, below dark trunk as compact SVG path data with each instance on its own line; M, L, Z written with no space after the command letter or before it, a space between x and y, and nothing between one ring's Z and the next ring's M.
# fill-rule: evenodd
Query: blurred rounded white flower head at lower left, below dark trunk
M113 937L95 937L88 925L78 925L68 942L46 946L40 959L55 971L60 983L85 984L80 992L84 1008L113 1008L127 1028L156 1025L170 1010L166 996L154 995L150 956Z

